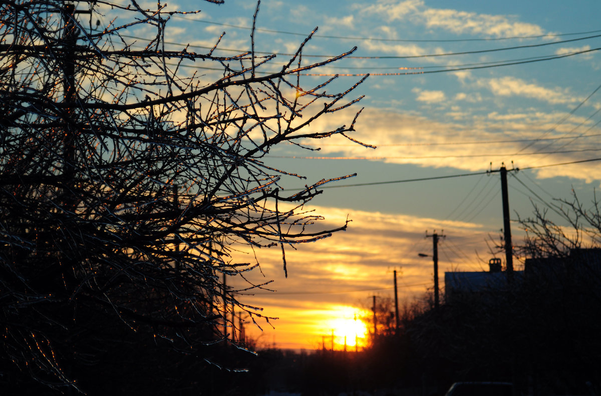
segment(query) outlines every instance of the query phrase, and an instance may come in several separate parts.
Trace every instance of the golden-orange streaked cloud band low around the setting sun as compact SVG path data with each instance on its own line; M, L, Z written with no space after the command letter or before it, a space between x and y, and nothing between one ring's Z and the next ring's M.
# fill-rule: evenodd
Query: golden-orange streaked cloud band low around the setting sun
M424 295L432 287L432 261L417 255L431 250L432 241L425 238L424 229L444 228L449 247L484 245L482 239L486 238L483 227L474 223L320 206L314 209L326 216L322 227L339 225L347 215L353 221L346 232L297 250L288 249L288 278L283 277L277 249L256 252L264 277L255 273L251 279L274 279L269 287L276 292L257 290L253 296L242 296L242 301L263 307L266 316L280 319L272 322L275 331L266 323L261 325L263 332L249 328L253 337L269 342L275 336L284 347L315 347L322 335L328 334L326 323L339 314L341 305L360 308L371 295L392 296L392 269L398 271L401 299ZM422 243L415 244L416 240ZM441 252L448 250L445 243L441 241ZM450 250L441 253L441 287L444 271L483 268L475 253L466 253L468 258L451 254L450 261L447 253ZM228 280L228 284L242 286L240 282L237 278Z

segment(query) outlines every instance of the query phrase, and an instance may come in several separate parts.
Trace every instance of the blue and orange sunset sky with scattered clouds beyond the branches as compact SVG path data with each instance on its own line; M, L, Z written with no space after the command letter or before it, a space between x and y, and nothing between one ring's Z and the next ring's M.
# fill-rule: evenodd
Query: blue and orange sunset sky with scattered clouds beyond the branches
M255 6L169 2L170 10L202 12L172 17L166 40L206 52L225 32L216 54L249 50ZM392 297L393 271L401 304L423 299L433 290L433 265L418 253L432 254L432 233L445 236L442 288L444 272L486 270L492 257L504 262L494 247L503 226L499 173L487 170L520 169L508 175L515 244L523 238L516 220L531 216L532 205L570 199L572 190L588 205L601 180L600 163L588 161L601 157L599 14L597 0L261 1L255 50L278 54L265 72L278 70L316 26L305 61L357 47L352 57L308 72L326 76L301 83L339 74L333 85L344 90L370 73L356 88L355 97L365 95L358 105L311 128L348 124L363 107L353 137L377 148L332 139L320 151L287 145L265 158L307 176L286 182L291 189L358 175L311 205L323 227L351 219L346 232L289 250L287 278L279 250L258 253L262 272L254 276L274 280L275 291L240 299L279 318L260 323L263 331L246 325L258 346L312 349L329 342L332 329L343 343L341 322L367 314L374 295ZM207 79L215 75L199 67ZM456 175L466 176L443 178ZM514 260L517 269L522 263Z

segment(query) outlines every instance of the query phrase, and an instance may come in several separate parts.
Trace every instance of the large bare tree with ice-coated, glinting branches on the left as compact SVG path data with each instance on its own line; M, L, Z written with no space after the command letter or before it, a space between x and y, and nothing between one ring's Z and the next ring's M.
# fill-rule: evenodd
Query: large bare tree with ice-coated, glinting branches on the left
M302 176L263 157L353 131L360 111L334 130L308 126L360 100L346 97L363 80L326 93L335 77L307 88L301 73L355 49L305 64L313 31L264 73L275 55L255 53L258 6L251 49L218 56L221 38L206 53L166 49L177 13L160 2L1 2L3 369L78 386L70 371L94 365L123 329L203 358L228 340L234 306L261 317L222 284L258 268L236 251L276 247L286 271L287 245L346 228L316 229L321 217L304 209L332 179L287 193L281 178ZM128 35L141 26L156 34ZM197 61L221 76L187 73Z

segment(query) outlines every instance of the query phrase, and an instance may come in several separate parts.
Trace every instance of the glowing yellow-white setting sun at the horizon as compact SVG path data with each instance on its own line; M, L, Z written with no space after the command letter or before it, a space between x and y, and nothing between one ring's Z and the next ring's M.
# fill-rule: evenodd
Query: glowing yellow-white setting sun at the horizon
M364 347L367 343L367 325L361 320L361 310L356 307L337 307L334 317L329 322L334 337L334 344L338 348Z

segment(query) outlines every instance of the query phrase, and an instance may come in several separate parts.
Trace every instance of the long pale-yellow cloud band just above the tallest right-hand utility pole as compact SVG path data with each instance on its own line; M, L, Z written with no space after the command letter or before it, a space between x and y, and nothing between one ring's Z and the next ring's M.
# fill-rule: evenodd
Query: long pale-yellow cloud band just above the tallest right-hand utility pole
M423 94L427 91L416 91ZM468 96L469 98L469 96ZM417 164L424 167L453 167L456 169L480 171L484 170L491 160L515 160L518 166L531 164L564 163L578 161L590 156L590 152L579 152L587 149L590 139L576 139L570 142L571 153L528 154L540 151L548 152L560 147L566 140L546 140L553 138L564 139L586 119L572 116L560 125L558 121L566 115L563 112L540 112L538 109L521 109L518 112L502 112L496 110L474 114L472 109L465 106L468 101L461 102L464 106L450 106L450 110L441 112L444 121L438 121L430 116L403 113L398 106L394 110L382 110L367 107L356 122L356 131L351 134L361 142L377 146L376 150L352 145L343 137L335 137L332 144L322 142L303 142L304 144L320 147L321 155L334 154L342 157L373 158L373 160L395 164ZM455 105L453 103L453 105ZM340 113L329 119L316 120L311 127L316 130L334 130L340 125L347 124L353 112L343 115ZM552 132L549 132L552 130ZM598 131L598 130L597 130ZM589 134L594 134L590 131ZM545 140L537 140L541 137ZM462 142L478 142L464 144ZM486 143L490 142L490 143ZM498 144L494 142L503 142ZM460 144L461 143L461 144ZM525 146L528 148L525 149ZM549 148L549 145L551 148ZM559 149L562 151L562 149ZM306 155L306 154L304 154ZM460 160L458 161L458 158ZM594 166L590 165L591 167ZM563 175L575 179L587 179L594 173L578 172L581 167L550 167L545 175ZM569 170L569 174L566 171Z

